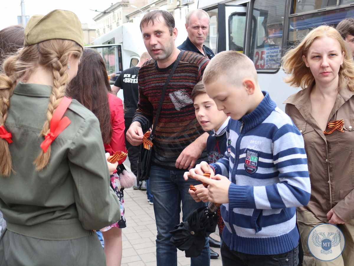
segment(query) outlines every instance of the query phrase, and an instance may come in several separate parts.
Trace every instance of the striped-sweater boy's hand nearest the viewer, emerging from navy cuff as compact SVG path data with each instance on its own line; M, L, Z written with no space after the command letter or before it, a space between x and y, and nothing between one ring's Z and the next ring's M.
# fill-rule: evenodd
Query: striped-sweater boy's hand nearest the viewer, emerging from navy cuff
M227 177L217 174L216 176L207 178L195 174L193 178L208 185L209 201L219 204L229 202L229 187L231 182Z

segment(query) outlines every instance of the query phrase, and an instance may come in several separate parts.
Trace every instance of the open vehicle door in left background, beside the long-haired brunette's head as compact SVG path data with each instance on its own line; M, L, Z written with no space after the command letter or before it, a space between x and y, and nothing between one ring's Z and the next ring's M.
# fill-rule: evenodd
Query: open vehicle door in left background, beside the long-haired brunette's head
M121 44L89 45L85 47L96 49L101 54L109 77L113 73L116 74L123 70Z

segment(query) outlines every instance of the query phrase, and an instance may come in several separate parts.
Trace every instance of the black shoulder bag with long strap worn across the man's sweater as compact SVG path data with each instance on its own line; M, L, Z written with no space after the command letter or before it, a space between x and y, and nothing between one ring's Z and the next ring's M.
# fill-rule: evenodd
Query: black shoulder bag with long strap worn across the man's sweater
M170 75L165 82L164 88L162 89L161 99L160 99L159 107L156 112L156 117L155 117L155 121L153 124L152 132L151 133L150 133L150 131L145 132L143 143L140 145L139 158L138 158L138 162L137 162L137 167L138 167L138 173L136 176L137 184L139 184L139 182L141 182L141 181L149 179L151 157L152 157L152 153L153 153L153 140L154 140L154 134L155 134L155 127L156 127L157 121L159 120L162 102L164 101L167 85L170 82L173 72L175 72L175 70L177 68L179 60L181 60L183 53L184 53L184 50L181 50L181 52L179 52L179 55L178 55L175 63L173 64L173 67L171 69Z

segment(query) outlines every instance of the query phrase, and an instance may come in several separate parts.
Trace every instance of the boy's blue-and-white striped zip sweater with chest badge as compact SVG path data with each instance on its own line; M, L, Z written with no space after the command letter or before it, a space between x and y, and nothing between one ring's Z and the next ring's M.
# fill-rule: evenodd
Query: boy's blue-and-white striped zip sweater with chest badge
M229 203L221 206L223 241L246 254L274 255L298 245L296 207L310 199L301 133L269 94L241 120L230 120L227 151L212 164L228 176Z

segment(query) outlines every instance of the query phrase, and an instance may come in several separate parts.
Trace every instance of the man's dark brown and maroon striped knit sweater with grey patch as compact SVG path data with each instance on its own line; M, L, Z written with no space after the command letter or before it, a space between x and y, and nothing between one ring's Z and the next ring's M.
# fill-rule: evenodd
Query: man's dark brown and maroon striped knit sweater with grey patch
M185 51L166 89L159 121L155 130L152 162L169 169L176 169L176 160L190 143L204 133L195 118L190 93L202 78L209 62L207 57ZM159 68L149 60L138 74L139 102L133 121L138 121L146 132L153 123L159 106L161 91L170 74L170 65ZM204 151L197 161L207 159Z

